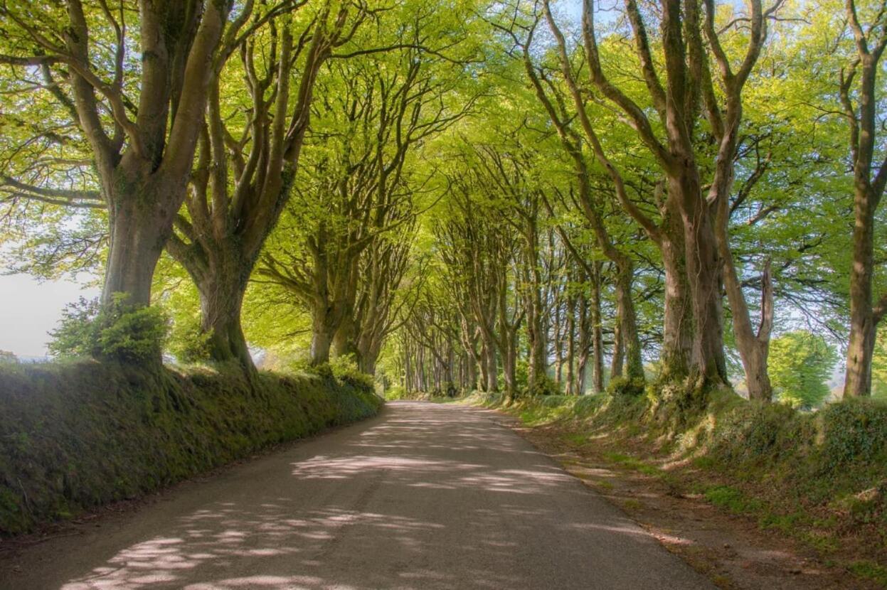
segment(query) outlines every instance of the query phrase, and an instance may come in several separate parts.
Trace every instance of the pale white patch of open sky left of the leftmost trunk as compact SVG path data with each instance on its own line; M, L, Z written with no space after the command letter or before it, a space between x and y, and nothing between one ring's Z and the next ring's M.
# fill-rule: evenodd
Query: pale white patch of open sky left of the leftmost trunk
M46 355L47 334L68 303L98 297L98 289L71 280L38 282L33 276L0 276L0 350L20 358Z

